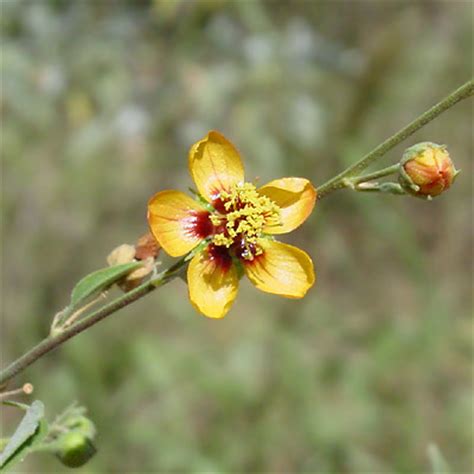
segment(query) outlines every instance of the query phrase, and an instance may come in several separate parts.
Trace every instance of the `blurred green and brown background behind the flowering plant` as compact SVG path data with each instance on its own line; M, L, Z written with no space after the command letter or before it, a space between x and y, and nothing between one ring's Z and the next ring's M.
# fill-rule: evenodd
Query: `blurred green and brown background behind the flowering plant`
M472 73L470 1L2 0L2 365L74 283L191 185L209 129L247 176L316 185ZM99 436L79 472L473 469L472 105L431 140L463 170L433 202L343 191L286 241L313 257L301 301L242 284L222 321L186 287L123 310L29 368L50 418L78 400ZM18 422L5 412L5 431ZM66 472L48 455L18 472Z

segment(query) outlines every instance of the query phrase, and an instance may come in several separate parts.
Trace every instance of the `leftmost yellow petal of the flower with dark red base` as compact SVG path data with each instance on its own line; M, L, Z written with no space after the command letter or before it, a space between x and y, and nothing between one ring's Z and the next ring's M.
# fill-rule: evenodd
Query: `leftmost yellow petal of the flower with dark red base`
M188 253L212 230L209 212L180 191L155 194L148 202L148 223L172 257Z

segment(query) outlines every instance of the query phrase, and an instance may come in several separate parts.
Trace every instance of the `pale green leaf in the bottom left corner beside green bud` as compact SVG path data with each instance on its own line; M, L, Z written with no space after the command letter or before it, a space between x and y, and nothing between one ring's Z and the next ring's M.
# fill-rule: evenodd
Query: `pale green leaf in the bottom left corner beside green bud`
M15 433L0 454L0 469L11 468L22 461L34 450L48 431L44 419L44 405L39 400L34 401L27 409Z

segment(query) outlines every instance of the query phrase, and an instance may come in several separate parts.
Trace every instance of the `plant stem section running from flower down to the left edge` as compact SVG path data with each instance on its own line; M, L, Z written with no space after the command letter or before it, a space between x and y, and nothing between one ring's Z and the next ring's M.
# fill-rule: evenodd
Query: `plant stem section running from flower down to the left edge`
M82 331L85 331L94 324L97 324L99 321L102 321L104 318L110 316L119 309L128 306L140 298L143 298L155 288L168 283L170 280L178 276L179 271L186 263L187 260L185 258L178 260L170 268L161 272L156 278L152 278L145 283L142 283L137 288L129 291L128 293L124 293L115 300L104 305L102 308L91 313L89 316L86 316L75 324L68 326L62 332L43 339L39 344L23 354L19 359L12 362L5 370L0 373L0 386L4 385L10 379L15 377L15 375L22 372L40 357L43 357L48 352L60 346L63 342L71 339L74 336L77 336Z

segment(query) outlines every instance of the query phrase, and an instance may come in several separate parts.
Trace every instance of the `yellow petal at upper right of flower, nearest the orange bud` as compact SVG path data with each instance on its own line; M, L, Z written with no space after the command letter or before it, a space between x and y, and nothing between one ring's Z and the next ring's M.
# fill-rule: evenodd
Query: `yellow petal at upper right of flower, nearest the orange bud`
M268 226L268 234L285 234L299 227L311 214L316 202L316 189L304 178L275 179L258 192L268 196L281 209L279 226Z

